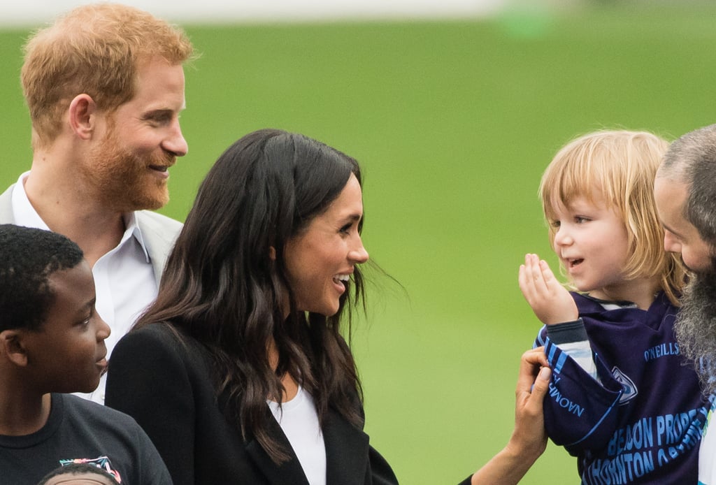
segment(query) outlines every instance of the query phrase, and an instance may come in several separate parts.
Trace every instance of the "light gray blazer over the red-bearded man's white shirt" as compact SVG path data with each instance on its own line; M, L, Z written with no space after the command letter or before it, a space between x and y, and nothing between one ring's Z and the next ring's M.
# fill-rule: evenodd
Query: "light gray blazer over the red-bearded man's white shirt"
M14 186L14 184L11 185L0 195L0 224L15 223L12 215L12 189ZM154 276L159 284L167 257L179 235L182 223L151 210L137 210L135 217L137 217L137 225L142 231L142 238L147 246Z

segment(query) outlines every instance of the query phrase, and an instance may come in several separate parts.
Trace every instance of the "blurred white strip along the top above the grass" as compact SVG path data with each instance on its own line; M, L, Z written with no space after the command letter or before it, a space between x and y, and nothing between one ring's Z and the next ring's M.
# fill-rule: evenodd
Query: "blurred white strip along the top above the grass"
M0 0L0 26L38 26L95 0ZM489 16L509 0L118 0L179 23Z

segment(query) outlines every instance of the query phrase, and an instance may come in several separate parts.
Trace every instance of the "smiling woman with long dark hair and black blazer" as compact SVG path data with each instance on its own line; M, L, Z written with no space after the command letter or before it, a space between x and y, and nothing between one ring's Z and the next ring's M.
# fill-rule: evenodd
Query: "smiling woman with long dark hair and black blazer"
M342 336L362 221L357 162L300 134L248 134L208 172L107 380L175 485L397 483Z

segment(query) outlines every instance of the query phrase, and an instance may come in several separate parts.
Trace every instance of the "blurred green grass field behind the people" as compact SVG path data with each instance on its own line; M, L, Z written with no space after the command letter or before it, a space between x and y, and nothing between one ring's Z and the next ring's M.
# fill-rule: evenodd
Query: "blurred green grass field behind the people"
M456 483L510 436L518 359L539 328L517 270L528 252L554 266L536 188L558 147L602 127L673 139L716 122L716 6L602 3L490 21L185 25L202 57L187 69L190 153L162 212L183 220L213 160L253 129L362 162L364 242L405 290L375 275L353 343L367 431L404 484ZM32 156L28 33L0 31L0 187ZM523 480L578 482L553 445Z

